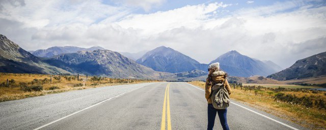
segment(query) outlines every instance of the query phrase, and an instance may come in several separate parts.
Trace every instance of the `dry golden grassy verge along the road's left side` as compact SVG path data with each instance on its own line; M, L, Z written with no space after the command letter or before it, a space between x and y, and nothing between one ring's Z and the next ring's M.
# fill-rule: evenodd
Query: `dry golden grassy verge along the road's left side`
M8 79L8 85L7 85ZM51 80L52 79L52 80ZM115 79L105 77L59 76L42 74L0 73L0 102L19 100L39 95L59 93L119 84L156 82L152 80ZM85 85L84 85L85 83Z

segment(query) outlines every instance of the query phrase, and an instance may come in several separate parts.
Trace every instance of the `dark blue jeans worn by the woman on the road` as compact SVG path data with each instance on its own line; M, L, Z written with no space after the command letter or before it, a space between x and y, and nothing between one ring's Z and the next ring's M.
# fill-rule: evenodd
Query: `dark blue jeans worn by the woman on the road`
M226 120L226 113L227 109L215 109L212 104L208 104L207 107L207 115L208 115L208 125L207 125L207 130L212 130L214 127L214 122L215 122L215 117L216 117L216 112L219 115L221 125L223 127L223 130L229 130L229 125Z

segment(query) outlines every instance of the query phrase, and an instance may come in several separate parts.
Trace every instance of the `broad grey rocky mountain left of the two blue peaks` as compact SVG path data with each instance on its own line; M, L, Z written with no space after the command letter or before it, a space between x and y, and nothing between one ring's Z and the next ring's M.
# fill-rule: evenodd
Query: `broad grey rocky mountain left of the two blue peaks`
M114 78L160 78L168 73L155 72L110 50L78 51L60 54L44 61L67 71Z

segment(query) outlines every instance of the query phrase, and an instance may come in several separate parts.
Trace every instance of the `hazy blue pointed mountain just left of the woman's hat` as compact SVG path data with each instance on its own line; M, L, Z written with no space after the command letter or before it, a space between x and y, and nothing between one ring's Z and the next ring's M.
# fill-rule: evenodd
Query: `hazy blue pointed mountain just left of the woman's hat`
M170 73L207 69L207 64L201 64L195 59L165 46L147 52L136 62L155 71Z

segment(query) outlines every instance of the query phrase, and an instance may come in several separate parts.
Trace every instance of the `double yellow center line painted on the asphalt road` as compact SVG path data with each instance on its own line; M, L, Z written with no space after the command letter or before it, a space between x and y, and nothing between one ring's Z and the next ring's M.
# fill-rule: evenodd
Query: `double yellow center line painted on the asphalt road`
M162 110L161 130L165 130L165 115L166 115L165 114L165 111L166 111L166 106L168 106L168 108L167 108L167 114L168 114L168 130L171 130L169 88L170 88L170 83L167 85L167 88L165 89L165 94L164 94L164 103L163 103L163 110Z

